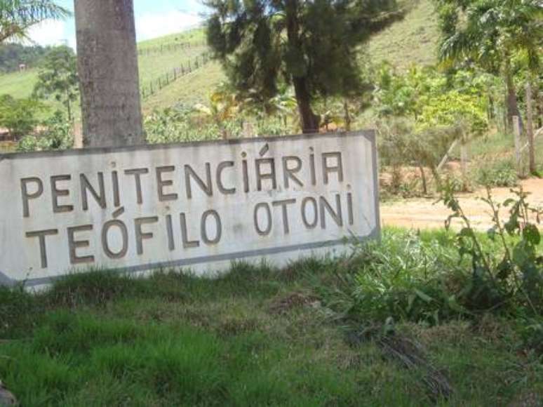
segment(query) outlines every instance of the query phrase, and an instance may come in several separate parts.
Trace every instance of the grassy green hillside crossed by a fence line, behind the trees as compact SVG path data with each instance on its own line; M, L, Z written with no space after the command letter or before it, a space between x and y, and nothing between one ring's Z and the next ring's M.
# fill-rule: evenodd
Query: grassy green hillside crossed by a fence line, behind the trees
M371 39L368 50L373 62L388 60L398 69L413 63L431 65L436 62L438 30L431 0L408 0L408 5L410 11L402 21ZM215 86L225 79L217 62L201 64L202 55L207 51L201 28L138 44L144 112L177 102L185 105L206 102ZM197 69L196 58L200 58ZM191 72L187 74L189 64ZM36 69L0 75L0 95L9 93L25 98L32 93L35 82Z

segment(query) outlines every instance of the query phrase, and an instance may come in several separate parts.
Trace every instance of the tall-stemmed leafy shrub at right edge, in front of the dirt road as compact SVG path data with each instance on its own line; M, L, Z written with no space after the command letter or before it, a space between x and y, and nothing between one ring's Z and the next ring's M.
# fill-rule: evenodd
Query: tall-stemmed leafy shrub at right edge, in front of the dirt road
M500 251L485 250L481 237L471 227L453 192L445 189L443 202L453 212L447 221L461 220L463 228L456 235L460 256L471 260L471 281L467 286L467 307L476 311L523 309L533 315L543 312L543 257L537 253L541 234L537 224L541 209L528 204L523 189L513 190L515 198L497 203L490 187L483 199L488 204L493 226L488 238ZM509 208L509 219L500 218L500 209Z

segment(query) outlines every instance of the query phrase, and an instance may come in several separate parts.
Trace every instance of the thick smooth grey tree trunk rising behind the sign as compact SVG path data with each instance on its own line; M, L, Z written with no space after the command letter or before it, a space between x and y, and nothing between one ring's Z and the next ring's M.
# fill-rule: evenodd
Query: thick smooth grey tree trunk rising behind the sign
M76 0L74 8L83 143L142 144L133 0Z

